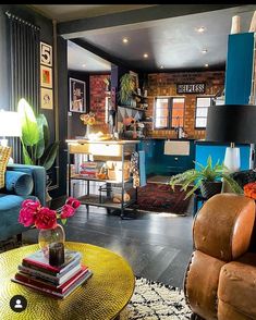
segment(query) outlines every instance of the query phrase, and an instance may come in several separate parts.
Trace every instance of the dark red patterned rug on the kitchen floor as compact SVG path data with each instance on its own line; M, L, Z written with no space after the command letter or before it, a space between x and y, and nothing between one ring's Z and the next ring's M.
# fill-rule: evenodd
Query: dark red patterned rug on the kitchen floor
M169 184L147 183L137 189L137 204L131 206L133 209L167 212L186 216L188 212L191 198L184 199L186 193L181 190L181 186L175 186L175 190Z

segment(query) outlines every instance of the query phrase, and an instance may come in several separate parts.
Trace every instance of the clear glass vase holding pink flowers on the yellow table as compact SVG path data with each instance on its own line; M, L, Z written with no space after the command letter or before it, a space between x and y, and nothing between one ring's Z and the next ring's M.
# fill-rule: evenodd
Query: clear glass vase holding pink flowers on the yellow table
M62 225L57 224L53 229L40 229L38 233L38 245L44 256L49 259L49 246L62 243L64 246L65 232Z

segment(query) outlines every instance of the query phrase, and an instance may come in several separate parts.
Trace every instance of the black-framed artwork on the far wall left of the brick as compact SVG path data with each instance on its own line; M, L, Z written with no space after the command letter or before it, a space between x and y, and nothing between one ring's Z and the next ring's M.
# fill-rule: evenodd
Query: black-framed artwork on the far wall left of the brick
M86 112L85 82L70 77L70 111Z

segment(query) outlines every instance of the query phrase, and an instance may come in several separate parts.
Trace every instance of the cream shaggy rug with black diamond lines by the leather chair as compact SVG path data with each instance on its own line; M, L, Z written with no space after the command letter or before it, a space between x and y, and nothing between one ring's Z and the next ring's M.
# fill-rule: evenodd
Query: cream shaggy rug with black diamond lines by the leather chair
M121 320L186 320L191 310L180 288L137 278L135 291Z

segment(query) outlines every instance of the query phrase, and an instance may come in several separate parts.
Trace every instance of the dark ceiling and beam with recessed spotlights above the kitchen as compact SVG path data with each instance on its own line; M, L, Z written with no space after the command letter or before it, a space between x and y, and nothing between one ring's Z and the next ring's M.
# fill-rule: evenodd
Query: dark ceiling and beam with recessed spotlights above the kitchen
M109 62L136 71L220 70L232 16L240 16L241 33L246 33L255 10L256 4L160 4L62 22L58 30ZM196 32L200 26L203 34Z

